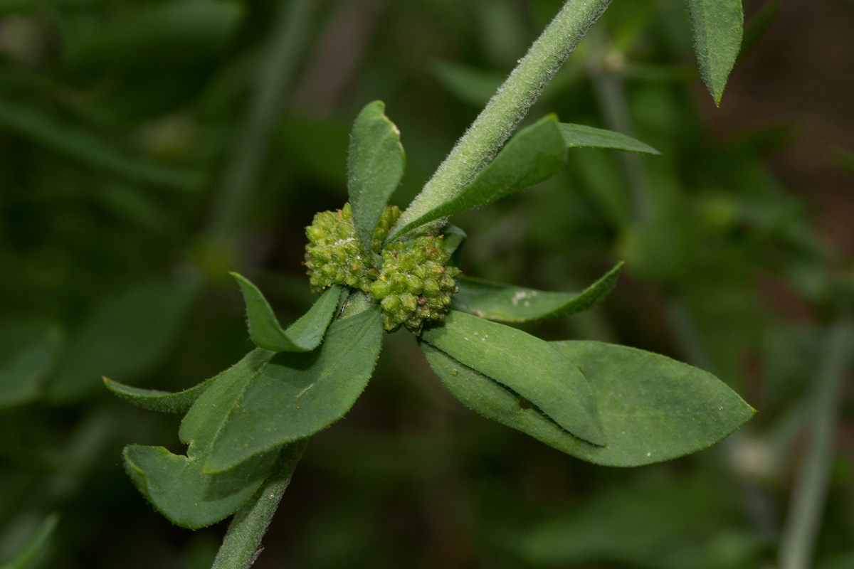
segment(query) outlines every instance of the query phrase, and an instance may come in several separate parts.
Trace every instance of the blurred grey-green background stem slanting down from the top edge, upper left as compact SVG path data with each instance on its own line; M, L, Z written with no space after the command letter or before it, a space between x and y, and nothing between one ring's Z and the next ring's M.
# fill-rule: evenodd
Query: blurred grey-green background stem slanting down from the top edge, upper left
M309 38L314 5L314 0L283 0L278 9L270 40L260 53L261 67L247 117L235 137L231 160L225 164L213 203L208 235L215 241L227 242L233 237L237 221L258 184L270 136L278 125Z

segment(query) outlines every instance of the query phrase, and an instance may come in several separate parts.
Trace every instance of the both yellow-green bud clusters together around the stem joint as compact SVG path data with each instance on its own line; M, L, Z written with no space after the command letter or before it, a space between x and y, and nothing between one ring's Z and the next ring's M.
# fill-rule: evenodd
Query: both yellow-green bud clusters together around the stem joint
M403 325L418 334L425 321L445 319L451 295L459 291L454 280L459 269L447 265L451 255L442 249L441 235L395 241L383 249L400 215L397 207L386 207L374 230L371 249L377 262L382 254L377 269L373 259L362 258L349 204L316 214L306 228L305 265L314 292L333 284L360 288L380 301L386 330Z

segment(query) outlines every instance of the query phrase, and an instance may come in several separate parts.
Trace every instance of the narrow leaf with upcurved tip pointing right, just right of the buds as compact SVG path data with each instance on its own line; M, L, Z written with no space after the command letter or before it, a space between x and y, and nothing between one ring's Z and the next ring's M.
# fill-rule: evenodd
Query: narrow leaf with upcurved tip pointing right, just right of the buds
M459 293L453 308L499 322L532 322L586 311L600 304L617 284L623 263L617 264L581 293L550 293L513 287L471 276L458 276Z

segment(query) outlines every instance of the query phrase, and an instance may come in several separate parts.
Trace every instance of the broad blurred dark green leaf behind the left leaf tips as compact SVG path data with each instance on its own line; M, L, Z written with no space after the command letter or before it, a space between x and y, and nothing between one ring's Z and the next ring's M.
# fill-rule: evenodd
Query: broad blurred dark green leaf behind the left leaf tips
M70 403L96 391L104 375L122 381L154 369L173 347L196 289L147 281L101 299L73 334L47 395Z

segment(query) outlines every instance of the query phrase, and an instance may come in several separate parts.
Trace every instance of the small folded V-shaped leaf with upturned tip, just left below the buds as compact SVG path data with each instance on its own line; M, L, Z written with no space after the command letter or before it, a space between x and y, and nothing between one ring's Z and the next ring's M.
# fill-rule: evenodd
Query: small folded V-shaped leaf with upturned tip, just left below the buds
M258 287L242 275L231 276L243 291L249 336L255 345L269 351L312 351L320 345L341 300L341 286L329 287L309 311L283 330Z

